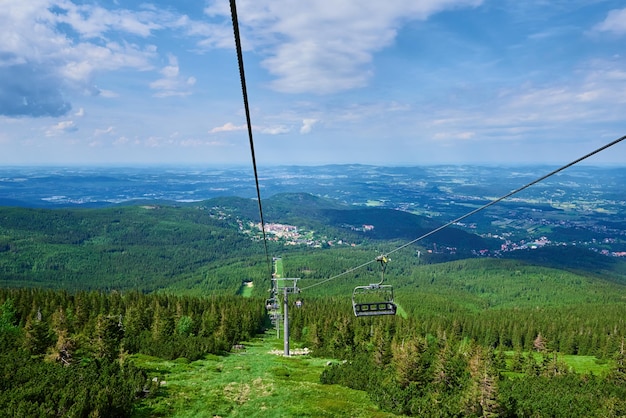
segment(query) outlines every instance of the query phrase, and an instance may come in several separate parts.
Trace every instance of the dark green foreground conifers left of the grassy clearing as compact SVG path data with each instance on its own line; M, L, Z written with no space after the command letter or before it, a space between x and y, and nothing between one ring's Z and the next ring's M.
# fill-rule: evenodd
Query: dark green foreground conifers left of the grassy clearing
M260 299L0 289L0 415L130 416L136 353L196 360L265 329Z

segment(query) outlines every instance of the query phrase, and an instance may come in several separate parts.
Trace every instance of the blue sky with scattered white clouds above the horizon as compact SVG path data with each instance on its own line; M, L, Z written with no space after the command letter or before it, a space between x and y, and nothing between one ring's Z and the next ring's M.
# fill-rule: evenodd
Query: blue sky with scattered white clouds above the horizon
M250 163L228 1L1 4L0 164ZM564 164L626 134L623 1L237 8L259 165Z

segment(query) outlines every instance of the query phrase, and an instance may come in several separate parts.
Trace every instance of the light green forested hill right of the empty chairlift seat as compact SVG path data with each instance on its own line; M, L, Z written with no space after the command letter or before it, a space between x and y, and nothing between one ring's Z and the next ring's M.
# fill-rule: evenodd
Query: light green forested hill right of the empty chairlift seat
M478 312L621 304L626 292L626 277L615 280L614 274L592 276L520 260L475 258L421 265L410 277L396 276L394 268L389 266L388 283L395 287L398 302L421 315L452 308Z

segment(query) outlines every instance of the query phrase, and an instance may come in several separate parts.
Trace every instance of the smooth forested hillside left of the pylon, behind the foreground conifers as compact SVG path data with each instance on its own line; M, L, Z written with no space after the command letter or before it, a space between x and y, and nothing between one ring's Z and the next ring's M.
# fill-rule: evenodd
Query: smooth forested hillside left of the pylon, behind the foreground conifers
M234 292L254 271L233 269L220 281L206 269L260 251L232 220L202 207L2 208L0 220L3 286L153 291L196 276Z

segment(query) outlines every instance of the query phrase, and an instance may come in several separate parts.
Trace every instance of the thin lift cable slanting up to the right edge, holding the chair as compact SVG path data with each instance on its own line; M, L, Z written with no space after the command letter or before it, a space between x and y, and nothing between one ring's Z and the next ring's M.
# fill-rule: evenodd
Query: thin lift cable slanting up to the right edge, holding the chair
M406 244L401 245L400 247L398 247L398 248L396 248L396 249L394 249L394 250L392 250L392 251L389 251L387 254L384 254L382 257L388 257L390 254L393 254L393 253L395 253L395 252L397 252L397 251L400 251L400 250L402 250L402 249L404 249L404 248L406 248L406 247L408 247L408 246L410 246L410 245L413 245L413 244L415 244L416 242L421 241L421 240L423 240L424 238L427 238L427 237L429 237L429 236L431 236L431 235L433 235L433 234L435 234L435 233L437 233L437 232L441 231L442 229L445 229L445 228L447 228L447 227L449 227L449 226L451 226L451 225L453 225L453 224L455 224L455 223L457 223L457 222L460 222L460 221L462 221L462 220L463 220L463 219L465 219L465 218L469 218L470 216L472 216L472 215L474 215L474 214L476 214L476 213L478 213L478 212L480 212L480 211L482 211L482 210L484 210L484 209L487 209L488 207L493 206L493 205L495 205L496 203L501 202L502 200L507 199L507 198L509 198L509 197L511 197L511 196L513 196L513 195L515 195L515 194L517 194L517 193L519 193L519 192L521 192L522 190L525 190L525 189L527 189L527 188L529 188L529 187L531 187L531 186L533 186L533 185L535 185L535 184L537 184L537 183L539 183L539 182L541 182L541 181L543 181L543 180L547 179L548 177L551 177L551 176L553 176L553 175L555 175L555 174L557 174L557 173L559 173L559 172L561 172L561 171L563 171L563 170L565 170L565 169L567 169L567 168L569 168L569 167L571 167L571 166L573 166L573 165L575 165L575 164L578 164L579 162L581 162L581 161L583 161L583 160L586 160L587 158L591 157L592 155L595 155L595 154L597 154L597 153L599 153L599 152L601 152L601 151L604 151L604 150L605 150L605 149L607 149L607 148L612 147L613 145L618 144L619 142L622 142L624 139L626 139L626 135L624 135L624 136L622 136L622 137L620 137L620 138L617 138L616 140L614 140L614 141L612 141L612 142L610 142L610 143L608 143L608 144L606 144L606 145L604 145L604 146L602 146L602 147L600 147L600 148L598 148L598 149L596 149L596 150L594 150L594 151L592 151L592 152L590 152L590 153L588 153L588 154L586 154L586 155L584 155L584 156L582 156L582 157L580 157L580 158L578 158L578 159L576 159L576 160L572 161L572 162L571 162L571 163L569 163L569 164L566 164L566 165L564 165L564 166L562 166L562 167L560 167L560 168L557 168L556 170L551 171L550 173L548 173L548 174L546 174L546 175L544 175L544 176L541 176L541 177L539 177L538 179L533 180L533 181L531 181L530 183L528 183L528 184L526 184L526 185L524 185L524 186L522 186L522 187L520 187L520 188L517 188L517 189L515 189L515 190L513 190L513 191L511 191L511 192L509 192L509 193L507 193L507 194L505 194L505 195L504 195L504 196L502 196L502 197L499 197L499 198L497 198L497 199L495 199L495 200L492 200L491 202L489 202L489 203L487 203L487 204L485 204L485 205L483 205L483 206L481 206L481 207L479 207L479 208L476 208L476 209L472 210L471 212L468 212L468 213L466 213L465 215L460 216L460 217L458 217L458 218L456 218L456 219L454 219L454 220L452 220L452 221L448 222L448 223L447 223L447 224L445 224L445 225L442 225L442 226L440 226L440 227L438 227L438 228L435 228L435 229L433 229L432 231L427 232L426 234L422 235L421 237L418 237L418 238L414 239L413 241L409 241L409 242L407 242ZM372 263L375 263L376 261L379 261L380 257L381 257L381 256L378 256L378 257L376 257L374 260L371 260L371 261L368 261L368 262L366 262L366 263L363 263L363 264L361 264L361 265L359 265L359 266L357 266L357 267L353 267L353 268L351 268L351 269L349 269L349 270L346 270L346 271L344 271L344 272L342 272L342 273L339 273L339 274L337 274L337 275L335 275L335 276L332 276L332 277L329 277L329 278L327 278L327 279L321 280L321 281L319 281L319 282L317 282L317 283L314 283L314 284L312 284L312 285L310 285L310 286L303 287L303 288L301 288L301 290L310 289L310 288L312 288L312 287L319 286L319 285L322 285L322 284L324 284L324 283L327 283L327 282L329 282L329 281L331 281L331 280L334 280L334 279L336 279L336 278L339 278L339 277L341 277L341 276L343 276L343 275L346 275L346 274L352 273L352 272L353 272L353 271L355 271L355 270L358 270L358 269L363 268L363 267L366 267L366 266L368 266L368 265L370 265L370 264L372 264Z

